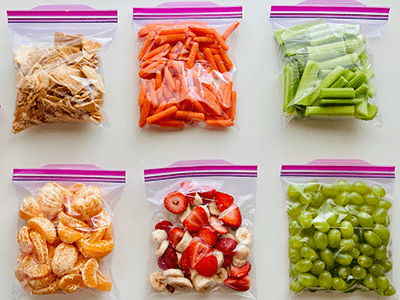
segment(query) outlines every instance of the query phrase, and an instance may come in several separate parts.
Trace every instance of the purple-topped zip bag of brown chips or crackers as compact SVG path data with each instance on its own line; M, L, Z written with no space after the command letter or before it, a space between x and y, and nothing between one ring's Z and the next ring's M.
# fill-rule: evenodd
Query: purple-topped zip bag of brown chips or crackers
M16 69L13 133L43 123L104 124L102 59L117 11L41 5L7 16Z

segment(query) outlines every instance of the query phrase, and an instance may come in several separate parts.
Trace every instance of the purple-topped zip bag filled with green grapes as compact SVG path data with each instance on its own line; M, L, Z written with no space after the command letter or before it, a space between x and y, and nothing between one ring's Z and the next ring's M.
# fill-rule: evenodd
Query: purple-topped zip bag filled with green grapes
M289 216L290 295L369 294L397 299L391 280L394 166L361 160L283 165ZM374 298L375 299L375 298Z

